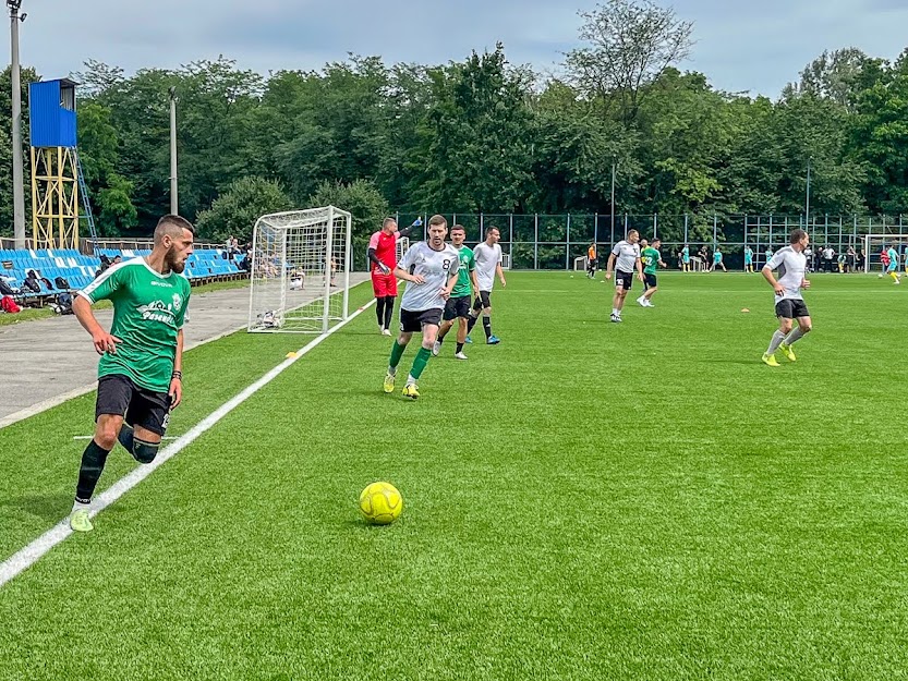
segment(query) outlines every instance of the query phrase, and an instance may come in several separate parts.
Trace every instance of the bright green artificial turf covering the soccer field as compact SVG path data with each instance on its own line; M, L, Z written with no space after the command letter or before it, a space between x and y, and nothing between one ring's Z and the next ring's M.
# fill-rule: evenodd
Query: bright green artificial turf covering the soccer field
M0 589L0 679L906 678L908 289L814 276L774 369L759 275L659 283L617 325L607 284L510 272L501 344L451 337L415 402L367 309ZM171 430L305 340L187 353ZM92 412L0 430L0 556L66 513Z

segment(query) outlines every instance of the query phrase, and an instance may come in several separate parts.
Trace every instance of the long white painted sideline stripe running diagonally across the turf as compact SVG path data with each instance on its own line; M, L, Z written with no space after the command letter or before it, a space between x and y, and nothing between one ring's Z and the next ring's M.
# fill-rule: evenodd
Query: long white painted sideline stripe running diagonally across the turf
M243 389L242 392L231 398L229 401L225 402L222 405L220 405L218 409L211 412L208 416L203 418L202 422L190 428L187 433L180 436L174 442L165 447L152 463L134 469L131 473L117 481L108 489L98 495L98 497L92 502L92 510L89 511L89 516L94 518L102 510L105 510L107 507L111 506L130 489L132 489L133 487L138 485L138 483L148 477L155 471L155 469L164 465L168 460L172 459L178 453L180 453L180 451L190 446L193 441L195 441L196 438L203 435L206 430L210 429L211 426L218 423L221 418L227 416L240 404L242 404L253 394L258 392L258 390L261 390L269 382L271 382L275 378L277 378L277 376L280 375L283 372L283 369L291 366L294 362L300 360L310 350L313 350L315 346L317 346L331 333L347 326L348 323L352 321L358 316L360 316L360 314L364 309L371 307L373 303L375 303L375 299L370 301L366 305L363 305L362 307L356 309L356 312L351 314L347 319L338 324L336 327L329 329L327 333L323 333L322 336L313 339L308 344L298 350L295 356L284 360L270 372L265 374L262 378L256 380L254 384ZM63 542L71 534L73 534L73 531L70 528L69 516L66 516L59 523L57 523L53 527L44 533L41 536L39 536L37 539L32 542L28 546L10 556L10 558L0 563L0 587L2 587L4 584L7 584L7 582L13 580L15 576L34 566L36 562L38 562L38 560L40 560L45 554L50 551L50 549Z

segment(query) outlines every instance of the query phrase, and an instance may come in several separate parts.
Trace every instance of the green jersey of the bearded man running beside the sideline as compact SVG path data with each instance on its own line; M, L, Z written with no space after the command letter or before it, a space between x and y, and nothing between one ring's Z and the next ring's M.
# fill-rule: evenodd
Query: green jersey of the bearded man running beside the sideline
M171 271L159 275L145 258L114 265L78 292L90 303L113 303L110 333L122 342L98 363L101 376L126 376L155 392L170 389L177 333L183 328L190 282Z

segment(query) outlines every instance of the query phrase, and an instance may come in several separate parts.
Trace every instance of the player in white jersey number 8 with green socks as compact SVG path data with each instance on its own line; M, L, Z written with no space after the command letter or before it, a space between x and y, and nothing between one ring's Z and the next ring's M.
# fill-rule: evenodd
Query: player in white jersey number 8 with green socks
M432 346L438 336L441 313L457 282L460 254L445 243L448 222L440 215L428 221L428 241L421 241L404 254L395 268L395 276L407 281L407 290L400 301L400 336L391 345L385 392L394 392L397 365L413 333L421 332L423 342L413 360L413 367L403 387L403 397L420 397L416 381L432 356Z

